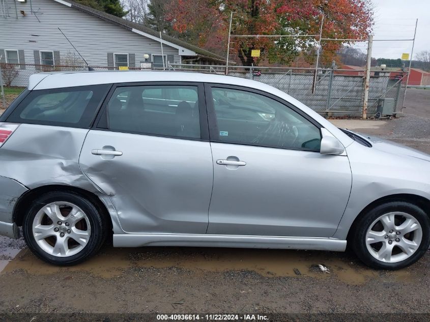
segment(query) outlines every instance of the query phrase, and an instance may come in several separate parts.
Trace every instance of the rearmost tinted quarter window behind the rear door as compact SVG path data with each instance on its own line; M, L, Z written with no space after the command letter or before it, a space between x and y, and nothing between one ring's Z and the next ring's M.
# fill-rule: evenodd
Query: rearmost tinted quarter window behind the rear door
M32 91L8 122L89 128L109 84Z

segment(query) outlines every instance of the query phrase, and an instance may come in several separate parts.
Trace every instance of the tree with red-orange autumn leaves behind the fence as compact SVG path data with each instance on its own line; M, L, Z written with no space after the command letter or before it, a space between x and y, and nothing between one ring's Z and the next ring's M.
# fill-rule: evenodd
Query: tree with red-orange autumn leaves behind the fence
M371 30L370 0L170 0L167 19L184 40L225 52L230 13L232 35L318 35L324 16L323 38L365 39ZM318 37L232 37L231 54L250 66L261 60L289 64L306 52L311 60ZM322 41L321 61L329 64L342 44ZM260 49L261 57L251 57Z

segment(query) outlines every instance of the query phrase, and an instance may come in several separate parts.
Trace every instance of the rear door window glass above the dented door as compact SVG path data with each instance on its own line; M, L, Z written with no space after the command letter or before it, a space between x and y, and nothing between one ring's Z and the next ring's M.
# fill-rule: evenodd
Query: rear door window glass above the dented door
M108 103L108 128L200 138L197 86L118 87Z

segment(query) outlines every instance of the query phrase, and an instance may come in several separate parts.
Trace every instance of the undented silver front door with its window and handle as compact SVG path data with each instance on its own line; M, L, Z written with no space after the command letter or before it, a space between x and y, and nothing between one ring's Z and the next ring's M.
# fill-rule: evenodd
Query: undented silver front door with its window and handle
M209 234L330 237L351 191L347 156L321 155L320 125L270 94L206 84L214 166Z

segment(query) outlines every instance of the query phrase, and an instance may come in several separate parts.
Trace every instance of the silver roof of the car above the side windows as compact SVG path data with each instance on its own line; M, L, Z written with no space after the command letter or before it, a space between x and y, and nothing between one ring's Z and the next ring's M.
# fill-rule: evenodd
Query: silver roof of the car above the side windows
M30 76L29 90L58 89L61 87L147 82L147 81L189 81L242 85L261 88L264 85L250 79L218 74L175 72L175 71L90 71L90 72L51 72Z

